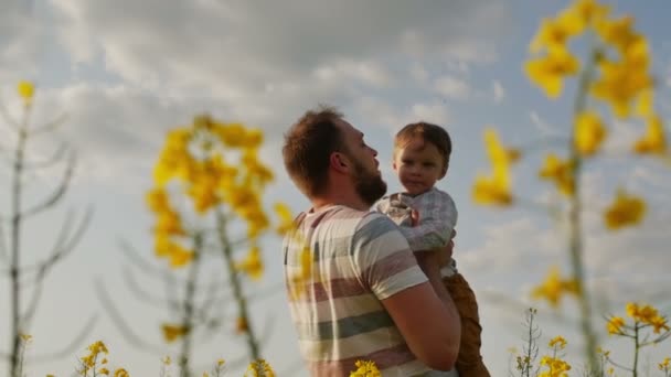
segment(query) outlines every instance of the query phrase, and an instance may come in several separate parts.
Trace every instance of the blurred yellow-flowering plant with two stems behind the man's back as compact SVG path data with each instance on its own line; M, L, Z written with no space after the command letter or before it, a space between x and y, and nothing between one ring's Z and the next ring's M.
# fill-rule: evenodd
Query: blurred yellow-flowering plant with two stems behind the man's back
M167 134L155 164L155 185L146 198L156 222L155 255L170 268L161 272L169 292L166 301L177 316L163 322L161 332L167 343L181 346L181 376L191 375L196 331L213 336L225 322L222 308L230 303L236 306L232 327L244 335L248 359L260 358L244 282L263 277L259 241L273 230L263 201L273 181L271 170L258 158L263 140L259 129L198 116ZM275 230L283 234L291 214L281 203L275 211ZM246 254L239 256L239 250ZM227 281L203 283L209 272L223 276L221 269L212 270L216 260L223 261Z

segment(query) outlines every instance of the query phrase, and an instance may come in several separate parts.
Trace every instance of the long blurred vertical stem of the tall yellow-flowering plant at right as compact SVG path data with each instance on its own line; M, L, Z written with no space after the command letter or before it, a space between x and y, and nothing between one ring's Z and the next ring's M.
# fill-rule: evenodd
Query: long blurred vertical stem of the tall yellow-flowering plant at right
M573 119L575 119L587 106L587 93L589 90L589 84L594 77L594 68L596 64L598 52L593 50L590 60L587 62L587 66L582 72L578 80L577 96L574 104ZM597 338L592 323L592 303L589 300L588 290L585 287L585 268L584 268L584 249L583 249L583 219L582 219L582 191L581 191L581 173L583 168L583 160L575 148L575 130L573 130L573 138L571 140L571 155L569 161L573 165L574 173L574 195L569 200L568 208L568 223L569 223L569 255L571 266L573 269L573 277L577 286L577 298L578 306L581 311L581 327L583 331L583 337L585 342L585 355L587 355L587 364L590 370L594 370L597 365Z

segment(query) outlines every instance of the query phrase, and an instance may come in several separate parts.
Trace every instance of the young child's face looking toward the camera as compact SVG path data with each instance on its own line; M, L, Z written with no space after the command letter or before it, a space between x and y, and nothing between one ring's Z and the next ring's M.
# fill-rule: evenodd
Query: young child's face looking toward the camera
M424 140L413 140L396 150L393 168L406 192L419 195L429 191L445 175L438 148Z

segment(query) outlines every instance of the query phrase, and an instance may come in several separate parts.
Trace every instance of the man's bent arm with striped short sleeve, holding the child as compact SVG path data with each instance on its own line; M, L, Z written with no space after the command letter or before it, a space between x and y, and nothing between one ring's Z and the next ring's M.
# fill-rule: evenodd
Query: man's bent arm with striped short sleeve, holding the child
M362 279L380 298L417 359L433 369L452 369L461 326L440 284L438 265L432 260L437 254L426 254L427 267L433 263L436 268L428 270L433 281L426 281L426 272L420 272L417 258L393 222L371 214L362 223L352 241ZM444 294L445 301L440 298Z

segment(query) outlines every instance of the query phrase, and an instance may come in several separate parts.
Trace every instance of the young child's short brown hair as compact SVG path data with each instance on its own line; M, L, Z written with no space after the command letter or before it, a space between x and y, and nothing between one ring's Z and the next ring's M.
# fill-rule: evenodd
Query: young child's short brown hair
M449 157L452 153L452 141L447 131L437 125L419 121L409 123L401 129L394 138L394 157L398 150L406 148L411 142L422 140L434 144L443 157L444 168L449 165Z

